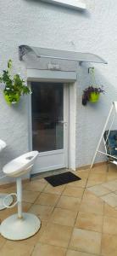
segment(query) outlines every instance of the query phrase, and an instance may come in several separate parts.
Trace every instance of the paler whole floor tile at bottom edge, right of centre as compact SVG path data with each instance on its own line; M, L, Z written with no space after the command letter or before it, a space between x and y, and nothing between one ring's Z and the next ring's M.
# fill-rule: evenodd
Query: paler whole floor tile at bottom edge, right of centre
M101 237L101 233L74 229L70 240L70 248L86 253L99 254L101 250Z

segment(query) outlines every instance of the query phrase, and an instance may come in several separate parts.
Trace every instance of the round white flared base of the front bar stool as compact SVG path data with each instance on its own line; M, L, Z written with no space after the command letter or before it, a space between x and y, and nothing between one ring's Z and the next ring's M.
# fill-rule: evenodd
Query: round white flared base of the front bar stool
M18 218L18 214L14 214L3 220L0 232L9 240L24 240L34 236L40 226L41 221L34 214L23 213L23 218Z

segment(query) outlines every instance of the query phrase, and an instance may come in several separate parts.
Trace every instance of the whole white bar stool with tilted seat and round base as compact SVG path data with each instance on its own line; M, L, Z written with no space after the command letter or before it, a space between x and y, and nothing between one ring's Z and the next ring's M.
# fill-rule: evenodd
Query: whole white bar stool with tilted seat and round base
M31 151L10 161L3 167L3 172L9 177L16 177L18 213L3 220L0 232L9 240L23 240L34 236L40 229L41 221L34 214L22 212L22 183L21 176L31 171L37 151ZM15 203L15 204L16 204ZM4 200L5 204L5 200Z

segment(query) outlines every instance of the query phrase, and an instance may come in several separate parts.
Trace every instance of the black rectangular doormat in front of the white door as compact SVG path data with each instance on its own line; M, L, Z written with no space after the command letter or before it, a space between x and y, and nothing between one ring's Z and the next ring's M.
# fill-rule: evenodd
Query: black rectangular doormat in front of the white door
M50 177L45 177L45 179L53 187L57 187L66 183L72 183L77 180L81 180L81 177L75 176L75 174L73 174L72 172L64 172Z

